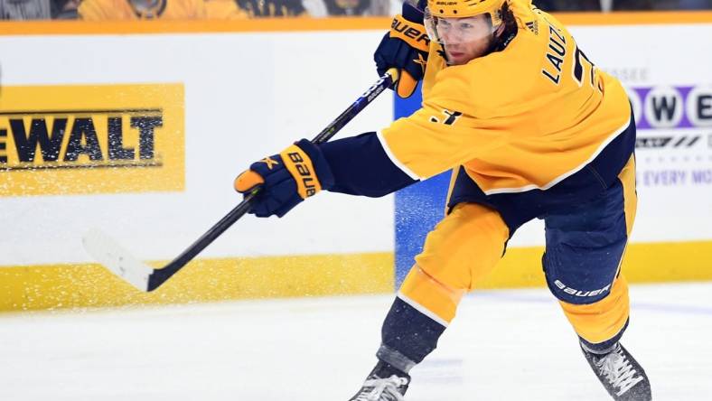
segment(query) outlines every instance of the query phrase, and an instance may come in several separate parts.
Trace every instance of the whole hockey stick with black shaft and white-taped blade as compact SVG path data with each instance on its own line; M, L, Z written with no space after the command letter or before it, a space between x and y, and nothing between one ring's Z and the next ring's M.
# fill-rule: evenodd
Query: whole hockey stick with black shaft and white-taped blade
M328 141L339 132L353 117L356 117L361 110L367 107L370 102L379 96L384 89L387 89L398 80L398 70L393 68L388 70L377 80L360 98L356 99L350 107L343 111L339 117L333 120L329 126L316 135L312 142L322 144ZM244 216L251 208L260 188L250 192L243 201L239 203L230 213L225 215L220 221L211 227L205 234L198 238L192 245L186 248L183 253L177 256L168 265L154 269L145 265L136 257L131 256L125 248L119 246L117 242L108 237L98 228L89 230L82 238L84 248L99 263L106 266L115 275L133 284L141 291L153 291L161 284L164 284L172 275L183 268L193 257L197 256L212 241L220 237L226 229L230 228L236 221Z

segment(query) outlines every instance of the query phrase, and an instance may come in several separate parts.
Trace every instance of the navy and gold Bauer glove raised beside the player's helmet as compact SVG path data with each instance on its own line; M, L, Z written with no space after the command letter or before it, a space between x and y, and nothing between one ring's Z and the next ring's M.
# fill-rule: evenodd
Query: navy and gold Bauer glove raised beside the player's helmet
M402 14L393 18L389 33L383 36L379 48L373 53L379 76L389 68L398 68L400 79L396 83L396 92L399 97L409 98L416 90L417 81L423 79L429 48L423 12L404 2Z

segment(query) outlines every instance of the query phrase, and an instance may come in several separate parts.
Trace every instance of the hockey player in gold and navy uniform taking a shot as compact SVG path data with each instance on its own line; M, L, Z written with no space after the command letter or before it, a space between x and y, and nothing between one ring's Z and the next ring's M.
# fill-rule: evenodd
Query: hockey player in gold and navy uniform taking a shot
M620 266L637 201L621 84L530 0L404 5L375 59L379 72L403 72L401 96L423 80L419 110L379 132L301 140L235 182L243 193L261 185L253 213L281 217L321 190L382 196L452 170L445 218L401 285L378 364L351 401L403 399L409 370L436 349L462 296L537 218L548 287L595 375L615 400L650 400L645 372L620 343L629 317Z

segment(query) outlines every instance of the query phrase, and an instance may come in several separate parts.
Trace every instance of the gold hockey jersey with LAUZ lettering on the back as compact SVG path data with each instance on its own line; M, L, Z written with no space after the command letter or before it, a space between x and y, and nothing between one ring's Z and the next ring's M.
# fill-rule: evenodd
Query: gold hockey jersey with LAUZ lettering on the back
M484 191L546 190L581 170L631 122L618 82L529 0L509 0L519 30L502 51L446 66L431 42L423 104L379 133L413 179L464 166Z

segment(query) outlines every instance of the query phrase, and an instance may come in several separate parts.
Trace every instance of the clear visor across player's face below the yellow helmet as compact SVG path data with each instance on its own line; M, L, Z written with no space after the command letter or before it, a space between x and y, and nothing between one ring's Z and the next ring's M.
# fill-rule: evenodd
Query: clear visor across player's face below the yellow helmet
M425 11L426 32L431 41L444 46L482 42L492 37L497 27L492 26L489 14L477 14L467 17L445 18Z

